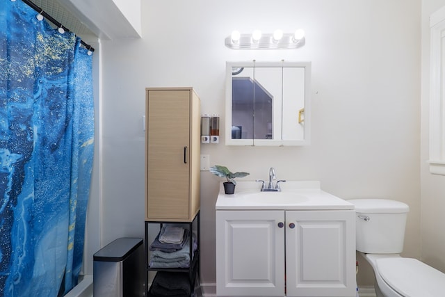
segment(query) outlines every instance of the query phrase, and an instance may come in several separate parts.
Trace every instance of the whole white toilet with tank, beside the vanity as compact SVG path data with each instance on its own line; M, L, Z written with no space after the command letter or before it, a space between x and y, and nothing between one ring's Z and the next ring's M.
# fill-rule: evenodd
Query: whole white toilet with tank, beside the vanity
M371 264L377 297L445 296L445 274L417 259L401 257L407 204L386 199L353 199L356 250Z

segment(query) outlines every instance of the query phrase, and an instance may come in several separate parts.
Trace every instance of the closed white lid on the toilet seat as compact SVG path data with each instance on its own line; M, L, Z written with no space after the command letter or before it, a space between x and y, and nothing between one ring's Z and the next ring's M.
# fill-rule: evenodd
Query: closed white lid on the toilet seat
M375 263L382 279L402 296L444 296L445 274L419 260L382 258Z

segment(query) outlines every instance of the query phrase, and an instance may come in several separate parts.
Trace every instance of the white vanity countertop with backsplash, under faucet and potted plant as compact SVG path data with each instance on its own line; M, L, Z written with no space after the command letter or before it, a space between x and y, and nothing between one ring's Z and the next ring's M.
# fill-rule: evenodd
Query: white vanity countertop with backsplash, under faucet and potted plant
M258 182L237 182L235 193L226 195L223 183L216 201L216 210L352 210L354 205L327 193L320 182L280 183L281 192L261 192ZM257 195L258 194L258 195ZM282 198L286 199L282 199ZM295 202L289 202L296 198ZM274 203L274 200L277 203Z

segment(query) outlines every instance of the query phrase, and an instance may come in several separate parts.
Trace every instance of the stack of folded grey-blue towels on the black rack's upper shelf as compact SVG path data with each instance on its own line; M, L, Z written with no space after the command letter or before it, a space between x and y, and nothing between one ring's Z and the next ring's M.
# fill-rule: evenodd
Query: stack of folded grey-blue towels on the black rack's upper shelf
M182 230L179 230L182 229ZM151 268L188 268L190 267L190 240L193 240L193 252L197 249L195 236L189 236L189 230L182 227L163 225L156 239L150 245L152 251L149 266ZM181 240L179 240L181 238ZM163 243L170 241L174 243Z

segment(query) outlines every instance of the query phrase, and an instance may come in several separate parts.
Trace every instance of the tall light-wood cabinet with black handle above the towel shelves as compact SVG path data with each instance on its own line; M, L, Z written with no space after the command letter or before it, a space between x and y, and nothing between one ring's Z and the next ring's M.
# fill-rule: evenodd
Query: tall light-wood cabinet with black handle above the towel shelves
M200 209L200 99L146 88L145 220L191 222Z

